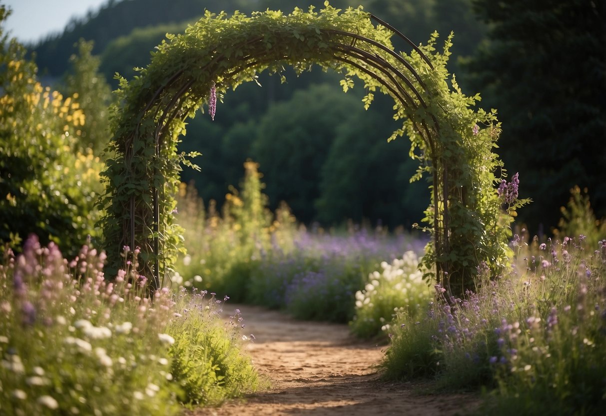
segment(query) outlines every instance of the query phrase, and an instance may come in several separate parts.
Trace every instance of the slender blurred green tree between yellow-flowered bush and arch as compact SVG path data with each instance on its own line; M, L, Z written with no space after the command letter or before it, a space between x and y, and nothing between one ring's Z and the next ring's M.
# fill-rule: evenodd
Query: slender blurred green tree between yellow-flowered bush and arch
M110 139L108 109L112 90L99 73L101 59L92 56L93 42L80 39L75 45L78 55L70 56L72 73L65 77L65 93L78 99L86 118L80 133L81 147L99 155Z

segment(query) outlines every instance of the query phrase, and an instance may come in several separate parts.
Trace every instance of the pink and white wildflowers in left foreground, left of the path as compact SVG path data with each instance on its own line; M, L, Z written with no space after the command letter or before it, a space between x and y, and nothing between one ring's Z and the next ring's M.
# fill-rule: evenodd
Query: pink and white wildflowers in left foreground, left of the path
M132 272L131 261L108 282L104 260L104 253L84 246L68 262L54 243L41 247L36 237L19 257L7 251L0 266L0 414L179 411L181 388L170 381L179 373L171 361L198 349L187 343L171 349L178 339L175 307L188 297L168 289L153 301L145 297L145 280ZM210 307L193 311L204 320L201 331L227 338ZM235 343L222 350L213 345L208 353L233 357L235 349Z

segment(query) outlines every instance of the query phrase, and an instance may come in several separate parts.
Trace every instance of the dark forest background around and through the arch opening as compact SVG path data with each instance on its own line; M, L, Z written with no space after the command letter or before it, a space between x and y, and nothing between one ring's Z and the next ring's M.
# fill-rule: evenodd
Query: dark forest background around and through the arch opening
M184 32L204 9L288 13L323 2L110 0L98 11L73 19L63 33L27 48L43 84L88 96L82 108L95 116L87 118L84 139L101 153L108 138L105 109L110 90L117 87L115 73L135 76L133 68L147 65L166 33ZM450 71L458 75L463 92L481 92L480 105L499 110L503 133L497 153L509 176L520 173L520 196L534 201L521 210L519 224L531 233L550 232L558 226L560 207L574 186L588 190L598 218L606 215L606 1L331 4L361 4L417 44L435 30L442 39L454 32ZM79 39L92 44L78 46ZM91 52L99 60L78 58ZM78 65L80 72L82 65L96 66L101 78L78 82ZM204 201L221 206L228 187L241 181L242 164L251 158L264 173L270 208L286 201L302 223L338 226L352 220L410 229L427 207L427 184L409 183L416 162L408 158L408 141L387 143L397 127L390 117L390 99L377 96L365 111L364 89L356 86L344 94L338 74L312 69L297 78L286 73L285 84L278 76L260 75L262 87L247 83L228 93L214 121L208 115L190 120L179 147L201 152L196 163L202 170L186 168L182 180L193 181Z

